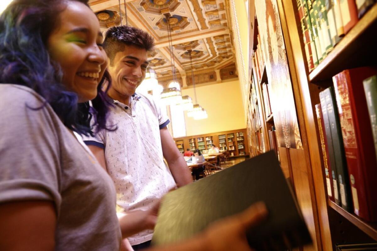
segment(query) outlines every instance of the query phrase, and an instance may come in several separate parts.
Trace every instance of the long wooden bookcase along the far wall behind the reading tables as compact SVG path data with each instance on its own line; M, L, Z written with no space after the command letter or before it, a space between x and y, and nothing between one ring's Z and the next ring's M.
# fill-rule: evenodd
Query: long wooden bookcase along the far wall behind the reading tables
M183 142L184 150L187 148L191 149L193 144L196 144L199 150L208 150L214 144L220 150L228 150L230 157L248 157L249 144L247 138L247 129L239 129L175 138L174 140L177 145L177 142Z

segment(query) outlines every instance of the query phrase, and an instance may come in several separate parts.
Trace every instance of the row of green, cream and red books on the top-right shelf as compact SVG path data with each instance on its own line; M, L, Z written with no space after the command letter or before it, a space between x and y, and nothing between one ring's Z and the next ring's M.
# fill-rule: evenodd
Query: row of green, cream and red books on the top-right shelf
M296 0L305 54L312 71L375 0Z

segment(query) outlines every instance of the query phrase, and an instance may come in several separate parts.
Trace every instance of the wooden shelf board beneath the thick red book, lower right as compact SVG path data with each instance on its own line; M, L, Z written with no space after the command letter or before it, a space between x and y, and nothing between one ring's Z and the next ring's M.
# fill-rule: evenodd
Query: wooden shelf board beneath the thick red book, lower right
M347 220L349 220L352 224L362 230L364 233L368 234L368 236L372 237L374 240L377 241L377 223L368 223L360 219L354 214L348 213L343 208L339 207L337 204L328 200L329 207L333 208Z

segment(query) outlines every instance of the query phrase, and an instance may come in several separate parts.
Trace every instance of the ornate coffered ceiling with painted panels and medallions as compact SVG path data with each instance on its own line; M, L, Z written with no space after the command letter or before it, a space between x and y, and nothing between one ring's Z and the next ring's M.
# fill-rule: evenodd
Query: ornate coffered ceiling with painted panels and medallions
M121 13L119 0L89 0L89 5L97 14L101 29L105 31L111 26L119 25L120 17L122 24L126 23L124 2L126 3L128 24L147 30L156 40L156 49L148 54L148 59L159 80L169 80L172 74L167 20L164 16L170 13L176 73L183 82L182 85L186 85L186 82L190 85L190 81L185 81L185 76L191 75L188 50L192 50L195 74L213 75L215 72L218 81L224 69L236 72L235 69L231 69L235 56L231 41L229 1L121 0Z

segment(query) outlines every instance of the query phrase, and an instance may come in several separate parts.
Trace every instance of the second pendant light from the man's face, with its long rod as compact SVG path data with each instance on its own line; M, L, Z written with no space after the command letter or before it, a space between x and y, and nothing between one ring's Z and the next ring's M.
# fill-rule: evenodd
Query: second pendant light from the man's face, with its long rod
M172 77L173 81L179 85L176 75L175 75L175 62L174 62L174 55L173 55L173 42L172 42L172 30L170 28L170 13L165 13L166 25L167 25L167 37L169 41L169 52L170 52L170 62L172 65ZM177 89L176 87L173 88L166 88L161 92L161 101L166 105L171 104L178 104L182 102L182 94L181 90Z

